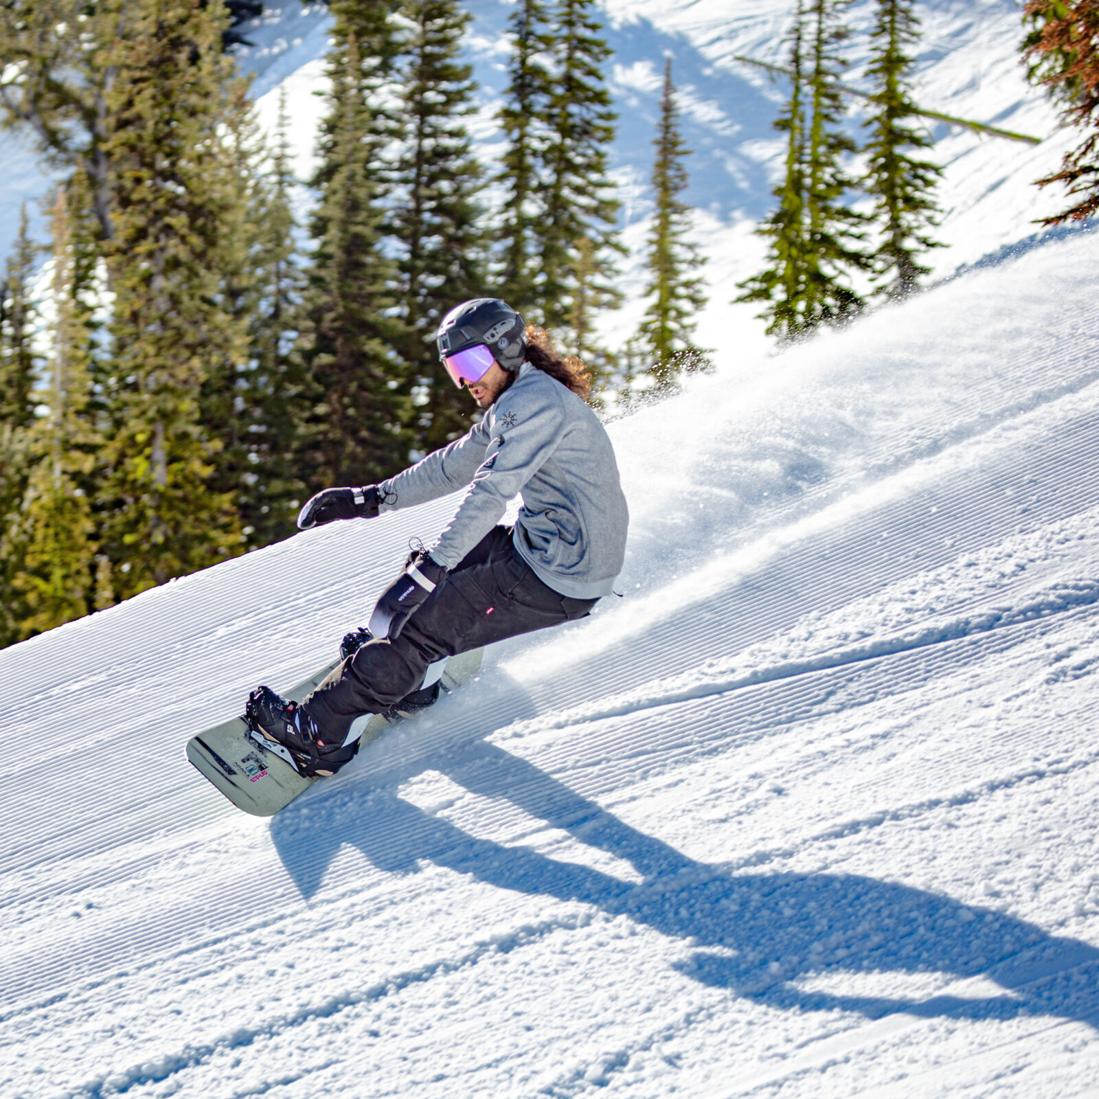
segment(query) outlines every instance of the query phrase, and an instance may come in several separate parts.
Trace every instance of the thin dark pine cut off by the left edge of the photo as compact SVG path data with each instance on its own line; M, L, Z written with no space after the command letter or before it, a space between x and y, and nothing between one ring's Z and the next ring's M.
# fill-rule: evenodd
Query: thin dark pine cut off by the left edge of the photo
M23 503L33 468L36 303L31 280L38 247L31 240L24 207L0 287L0 647L19 641L26 614L14 587L26 548Z

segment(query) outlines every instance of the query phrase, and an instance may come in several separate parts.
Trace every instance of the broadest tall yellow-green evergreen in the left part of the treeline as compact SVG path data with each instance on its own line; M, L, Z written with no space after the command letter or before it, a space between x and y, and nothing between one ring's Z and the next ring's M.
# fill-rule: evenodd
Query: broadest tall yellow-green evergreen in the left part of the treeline
M241 551L233 500L211 488L219 442L202 387L243 354L220 300L237 195L220 131L232 63L224 9L140 0L113 51L110 476L104 547L134 595Z

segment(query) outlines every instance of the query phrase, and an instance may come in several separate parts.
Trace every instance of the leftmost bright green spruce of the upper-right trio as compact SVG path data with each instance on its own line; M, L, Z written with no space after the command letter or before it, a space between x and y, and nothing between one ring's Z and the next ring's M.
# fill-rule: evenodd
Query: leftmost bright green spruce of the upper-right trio
M803 0L795 8L790 42L790 96L775 129L787 135L786 170L775 188L778 204L756 230L770 240L768 266L737 284L736 301L766 302L757 315L768 321L767 333L779 341L799 336L807 328L806 291L809 238L806 229L806 14Z

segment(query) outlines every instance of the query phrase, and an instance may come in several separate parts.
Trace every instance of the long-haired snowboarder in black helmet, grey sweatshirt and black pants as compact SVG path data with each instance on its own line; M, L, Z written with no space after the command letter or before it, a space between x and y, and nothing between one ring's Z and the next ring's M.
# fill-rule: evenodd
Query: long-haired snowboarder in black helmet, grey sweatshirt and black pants
M248 697L256 735L302 775L333 774L358 746L363 714L385 713L428 666L531 630L584 618L622 568L629 515L614 451L584 400L587 369L497 298L466 301L435 335L440 358L485 415L448 446L380 485L329 488L302 530L371 519L465 488L430 550L413 551L378 599L368 633L301 703L267 687ZM513 528L497 525L522 491ZM345 642L347 639L345 639Z

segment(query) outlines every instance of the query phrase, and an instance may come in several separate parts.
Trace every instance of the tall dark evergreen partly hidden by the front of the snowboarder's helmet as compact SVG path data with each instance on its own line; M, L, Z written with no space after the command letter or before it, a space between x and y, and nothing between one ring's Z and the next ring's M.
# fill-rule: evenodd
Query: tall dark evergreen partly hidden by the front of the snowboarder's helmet
M443 374L434 335L447 311L486 293L487 240L478 202L482 171L463 118L476 111L473 68L458 55L469 14L455 0L409 0L401 118L403 152L392 235L401 243L402 357L413 381L418 451L469 430L467 393Z

